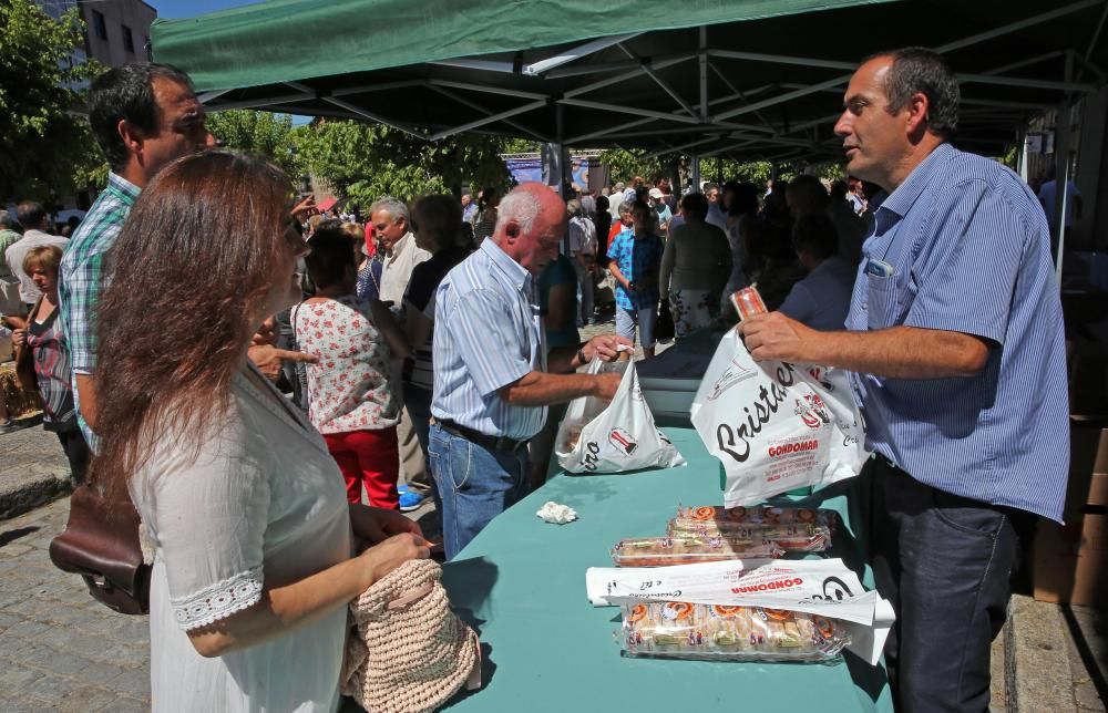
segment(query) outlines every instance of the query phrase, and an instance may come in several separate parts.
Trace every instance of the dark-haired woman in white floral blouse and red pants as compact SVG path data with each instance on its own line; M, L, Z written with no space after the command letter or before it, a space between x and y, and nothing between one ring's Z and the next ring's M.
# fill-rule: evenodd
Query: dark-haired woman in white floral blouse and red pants
M305 258L316 297L293 310L300 351L319 358L308 364L308 417L327 442L346 478L347 498L399 507L397 422L400 418L392 359L408 343L380 302L355 297L358 269L353 240L340 229L317 230Z

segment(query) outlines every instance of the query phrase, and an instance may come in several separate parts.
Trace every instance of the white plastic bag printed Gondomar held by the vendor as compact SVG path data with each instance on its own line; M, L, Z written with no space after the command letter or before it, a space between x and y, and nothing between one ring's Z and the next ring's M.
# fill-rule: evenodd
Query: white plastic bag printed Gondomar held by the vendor
M719 342L691 414L724 464L727 507L849 478L869 456L847 372L756 362L735 330Z

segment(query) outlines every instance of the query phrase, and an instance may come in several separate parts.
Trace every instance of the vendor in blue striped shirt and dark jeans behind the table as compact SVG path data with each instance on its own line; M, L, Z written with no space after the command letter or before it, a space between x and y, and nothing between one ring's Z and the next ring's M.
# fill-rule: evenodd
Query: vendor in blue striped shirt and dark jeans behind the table
M757 359L849 369L875 451L871 550L897 621L901 711L984 711L989 642L1036 516L1060 521L1065 335L1043 210L1018 176L947 141L958 86L923 49L866 60L835 125L883 187L849 331L780 313L742 326Z

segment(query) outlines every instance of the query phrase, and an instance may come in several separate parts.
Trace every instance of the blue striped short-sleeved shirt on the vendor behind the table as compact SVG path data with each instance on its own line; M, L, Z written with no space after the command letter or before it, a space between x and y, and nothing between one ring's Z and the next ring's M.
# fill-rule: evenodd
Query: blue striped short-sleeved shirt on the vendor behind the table
M847 327L992 342L971 378L852 374L866 440L926 485L1060 521L1069 403L1049 247L1043 210L1016 174L944 144L876 208ZM893 275L869 275L869 260Z

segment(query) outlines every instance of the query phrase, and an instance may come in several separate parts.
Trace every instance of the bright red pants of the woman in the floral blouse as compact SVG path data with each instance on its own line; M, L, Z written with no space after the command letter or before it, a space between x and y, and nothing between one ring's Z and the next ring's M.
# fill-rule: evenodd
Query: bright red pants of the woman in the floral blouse
M346 478L348 500L361 503L361 484L365 482L370 505L400 509L400 495L397 493L400 453L396 426L380 431L327 433L324 441Z

